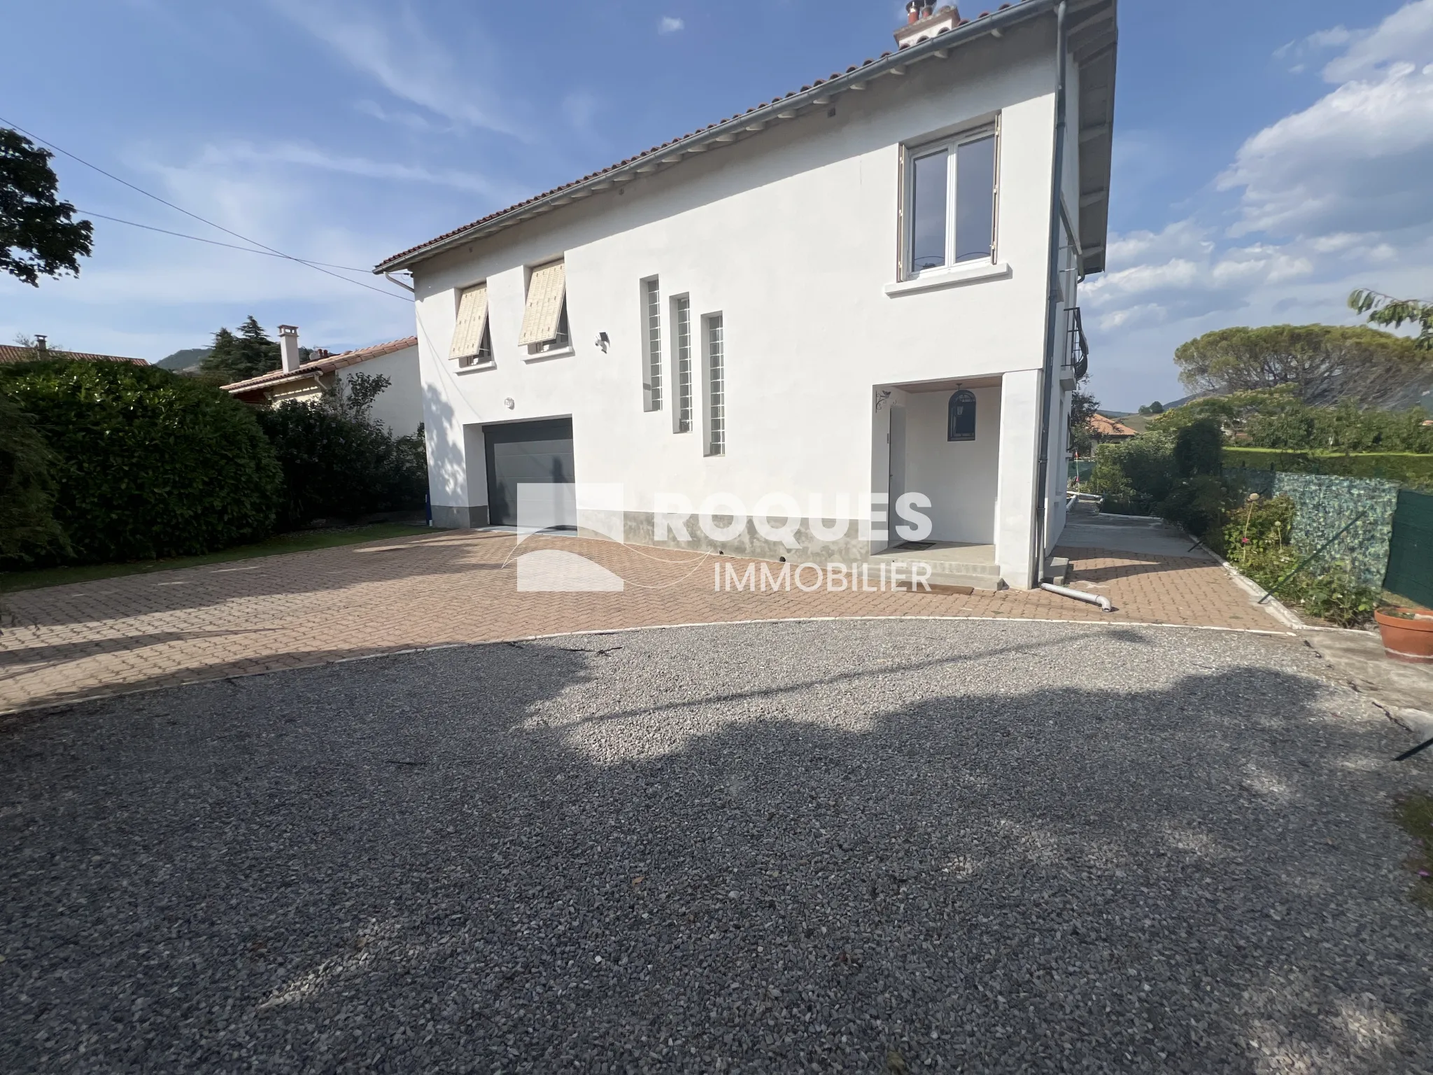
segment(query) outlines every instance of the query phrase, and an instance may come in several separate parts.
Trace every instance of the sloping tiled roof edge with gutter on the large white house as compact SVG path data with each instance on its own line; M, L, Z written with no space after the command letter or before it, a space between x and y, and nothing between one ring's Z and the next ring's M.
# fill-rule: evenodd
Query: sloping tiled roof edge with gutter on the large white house
M718 120L716 123L708 123L705 128L699 128L698 130L682 135L681 138L674 138L671 142L663 142L659 146L652 146L651 149L645 149L636 156L629 156L625 161L619 161L615 165L609 165L608 168L603 168L598 172L585 175L582 176L582 179L575 179L570 183L563 183L562 186L555 186L550 191L533 195L524 202L517 202L516 205L512 205L506 209L499 209L497 212L492 212L487 216L481 216L473 221L471 224L464 224L461 228L454 228L453 231L444 232L443 235L431 238L427 242L420 242L417 247L410 247L408 249L400 254L394 254L393 257L381 261L374 268L374 272L375 274L384 271L391 272L396 268L401 268L404 262L416 261L416 258L413 258L414 254L423 254L426 251L437 252L436 248L449 245L451 241L460 241L461 236L467 236L469 232L483 228L484 225L497 224L497 226L507 226L509 224L517 224L519 219L524 219L532 212L545 212L546 208L536 208L537 202L555 198L556 195L560 195L563 191L573 191L575 188L592 183L593 181L602 179L602 176L612 175L616 172L642 172L642 173L655 172L663 163L675 163L682 153L689 150L691 146L688 146L688 143L705 140L706 142L705 148L711 149L715 148L716 138L734 142L737 140L741 132L759 130L768 122L771 122L771 119L792 119L794 113L788 115L788 110L791 109L813 103L814 105L830 103L828 100L825 100L821 92L823 87L825 89L827 93L835 93L845 89L851 89L853 83L856 89L864 89L866 79L876 77L877 75L884 75L890 72L893 67L898 69L894 73L897 75L904 73L904 67L901 66L903 63L907 62L906 57L903 56L904 53L911 53L909 62L914 63L919 59L926 59L927 56L936 54L937 50L954 47L956 44L960 44L964 40L973 40L974 37L984 36L992 30L1000 30L1002 26L1015 23L1016 20L1033 17L1040 11L1052 10L1053 6L1055 0L1016 0L1015 4L1009 3L1000 4L999 9L996 9L995 14L992 14L990 11L982 11L974 19L962 19L960 23L956 24L953 29L941 29L936 36L919 42L917 44L903 44L896 52L883 52L876 59L867 59L864 63L853 63L844 72L833 72L825 79L814 79L810 85L802 86L800 90L791 90L782 97L772 97L770 102L762 102L761 105L755 105L747 109L745 112L737 113L735 116ZM941 10L946 9L943 7ZM775 112L771 116L767 115L781 106L785 108L780 112ZM747 126L752 123L752 120L761 120L761 126L759 128ZM715 138L708 138L709 135L712 135L719 129L725 129L724 133L716 135ZM674 152L676 153L676 156L671 156ZM648 158L661 158L661 159L649 161ZM643 161L645 163L639 165L639 162ZM626 176L626 178L635 178L635 176ZM609 183L600 183L595 189L606 189ZM575 195L579 198L585 198L586 194L588 192L585 191L575 192ZM555 205L559 204L565 205L566 199L555 202ZM527 214L523 214L522 211L529 209L529 206L533 208ZM513 214L522 214L522 215L517 219L502 221L502 218Z

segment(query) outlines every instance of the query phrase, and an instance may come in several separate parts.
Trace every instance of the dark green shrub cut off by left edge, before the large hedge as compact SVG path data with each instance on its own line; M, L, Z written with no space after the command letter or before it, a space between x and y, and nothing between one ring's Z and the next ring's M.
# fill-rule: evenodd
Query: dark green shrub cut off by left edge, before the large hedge
M54 522L54 462L34 420L0 396L0 563L67 546Z

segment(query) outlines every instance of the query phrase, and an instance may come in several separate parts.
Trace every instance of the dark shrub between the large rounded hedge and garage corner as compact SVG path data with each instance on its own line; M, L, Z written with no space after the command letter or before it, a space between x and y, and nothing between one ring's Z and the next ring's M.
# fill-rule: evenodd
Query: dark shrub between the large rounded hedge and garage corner
M285 403L258 419L284 469L285 529L423 507L428 472L421 430L396 439L340 407L305 403Z

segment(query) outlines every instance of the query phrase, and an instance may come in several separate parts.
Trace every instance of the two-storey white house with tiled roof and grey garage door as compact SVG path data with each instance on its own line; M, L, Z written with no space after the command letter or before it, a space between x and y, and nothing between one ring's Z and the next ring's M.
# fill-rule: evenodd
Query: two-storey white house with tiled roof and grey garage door
M894 53L388 258L416 287L434 522L513 523L517 483L576 480L668 543L672 494L778 494L798 553L752 522L686 548L851 560L924 493L930 540L1037 583L1116 39L1115 0L917 10Z

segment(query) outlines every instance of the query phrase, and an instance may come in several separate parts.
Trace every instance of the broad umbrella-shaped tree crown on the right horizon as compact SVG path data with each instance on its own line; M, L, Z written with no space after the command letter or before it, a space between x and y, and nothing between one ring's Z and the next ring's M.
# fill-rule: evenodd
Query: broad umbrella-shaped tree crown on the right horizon
M1175 351L1179 380L1228 394L1288 384L1311 406L1380 407L1433 376L1433 355L1412 340L1363 325L1221 328Z

